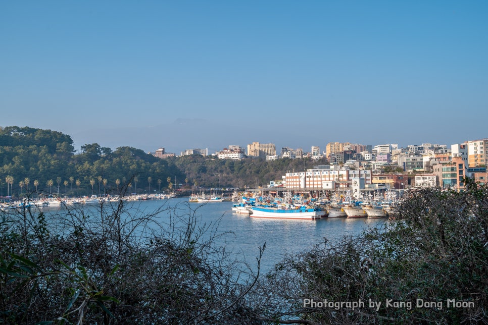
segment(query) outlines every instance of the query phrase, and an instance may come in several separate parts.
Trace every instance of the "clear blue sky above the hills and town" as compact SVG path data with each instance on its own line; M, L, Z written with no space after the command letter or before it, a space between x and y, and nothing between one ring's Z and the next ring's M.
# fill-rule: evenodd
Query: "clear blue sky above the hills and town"
M488 137L488 1L3 1L0 126L144 151Z

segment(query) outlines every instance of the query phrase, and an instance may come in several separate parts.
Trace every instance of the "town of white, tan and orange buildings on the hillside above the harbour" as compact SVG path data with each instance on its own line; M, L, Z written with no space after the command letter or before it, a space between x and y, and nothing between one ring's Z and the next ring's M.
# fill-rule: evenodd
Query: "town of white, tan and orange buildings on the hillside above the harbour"
M154 156L166 158L175 156L164 148L151 152ZM209 155L208 149L187 149L180 155ZM219 159L242 159L254 157L266 160L282 158L326 158L328 165L314 166L303 171L289 171L282 180L270 181L268 187L285 187L292 190L352 190L354 195L361 191L393 189L403 191L411 187L440 187L462 190L463 178L469 177L485 183L488 177L488 138L469 140L463 143L422 143L362 145L349 142L329 142L325 150L312 146L310 152L302 148L281 148L277 154L273 143L253 142L247 150L238 145L229 145L213 156Z

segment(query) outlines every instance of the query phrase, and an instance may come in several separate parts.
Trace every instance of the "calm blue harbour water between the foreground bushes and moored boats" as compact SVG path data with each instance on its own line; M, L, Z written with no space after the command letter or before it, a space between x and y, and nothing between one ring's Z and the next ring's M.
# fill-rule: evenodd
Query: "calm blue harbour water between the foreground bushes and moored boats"
M156 219L163 224L169 221L170 214L194 214L199 225L218 224L217 233L229 233L218 237L214 243L240 253L250 263L255 264L259 246L266 242L262 260L264 270L271 269L286 253L310 249L314 244L323 243L324 238L333 243L344 235L358 235L364 229L384 222L383 219L367 218L323 218L316 221L250 218L248 215L233 213L232 202L189 203L188 198L135 201L128 204L133 204L141 212L153 211L161 205L171 208L157 216Z

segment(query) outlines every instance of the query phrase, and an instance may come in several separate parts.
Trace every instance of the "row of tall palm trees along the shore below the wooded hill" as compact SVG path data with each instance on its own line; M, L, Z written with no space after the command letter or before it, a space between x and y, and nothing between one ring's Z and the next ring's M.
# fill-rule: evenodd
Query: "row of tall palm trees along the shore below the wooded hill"
M97 177L97 180L99 182L99 195L102 195L102 184L104 185L104 195L106 194L106 186L107 186L107 183L108 183L108 180L106 178L103 178L102 176L98 176ZM7 196L10 195L11 192L13 192L13 184L14 184L14 177L11 176L11 175L8 175L6 176L5 178L5 182L7 183ZM70 177L69 178L69 181L68 180L65 180L63 183L61 183L62 179L61 177L57 177L56 178L56 183L58 184L58 195L59 195L59 187L61 186L61 184L63 184L65 186L65 194L68 190L68 185L71 184L71 189L73 189L73 182L76 184L76 186L80 187L81 185L81 181L79 179L74 179L74 177ZM125 183L125 177L122 178L122 182ZM137 181L138 181L138 177L133 177L132 178L132 181L134 182L135 184L135 191L137 192ZM151 183L153 181L153 178L152 177L148 177L148 184L149 184L149 192L151 192ZM171 190L172 187L173 187L173 183L171 183L171 178L168 177L167 179L168 181L168 188ZM90 179L90 185L91 185L91 194L93 195L93 186L95 185L96 181L94 178L91 178ZM161 190L161 183L162 183L162 180L158 179L157 181L158 183L158 188L159 190ZM26 192L29 191L29 184L30 184L30 179L28 177L26 177L25 179L21 180L19 182L19 187L20 187L20 193L22 194L23 191L24 191L24 186L26 188ZM37 187L39 186L39 181L38 180L34 180L33 182L34 186L35 186L35 191L37 192ZM121 184L121 180L120 179L116 179L115 180L115 184L117 185L117 193L119 193L119 186ZM10 185L10 188L9 188L9 185ZM50 179L46 182L46 186L49 188L49 192L52 193L52 187L54 185L54 180ZM132 183L128 183L127 184L127 187L132 190Z

